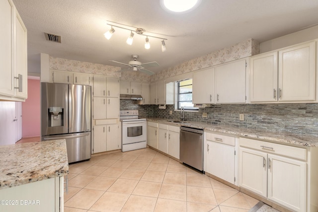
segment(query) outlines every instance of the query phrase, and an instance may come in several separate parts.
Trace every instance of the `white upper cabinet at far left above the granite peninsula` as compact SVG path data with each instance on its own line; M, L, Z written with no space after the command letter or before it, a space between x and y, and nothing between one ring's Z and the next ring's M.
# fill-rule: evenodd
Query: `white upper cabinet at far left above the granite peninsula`
M27 98L27 30L11 0L0 2L0 99Z

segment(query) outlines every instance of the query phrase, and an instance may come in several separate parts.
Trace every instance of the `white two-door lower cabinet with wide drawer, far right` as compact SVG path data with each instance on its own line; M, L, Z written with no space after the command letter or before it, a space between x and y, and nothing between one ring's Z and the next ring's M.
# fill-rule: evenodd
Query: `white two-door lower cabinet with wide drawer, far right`
M240 138L239 186L296 212L306 212L306 149Z

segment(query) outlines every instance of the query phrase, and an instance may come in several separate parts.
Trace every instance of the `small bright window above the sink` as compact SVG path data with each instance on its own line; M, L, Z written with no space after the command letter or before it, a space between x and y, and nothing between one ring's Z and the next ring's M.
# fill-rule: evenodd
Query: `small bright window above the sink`
M185 110L198 110L192 103L192 79L178 82L178 110L183 107Z

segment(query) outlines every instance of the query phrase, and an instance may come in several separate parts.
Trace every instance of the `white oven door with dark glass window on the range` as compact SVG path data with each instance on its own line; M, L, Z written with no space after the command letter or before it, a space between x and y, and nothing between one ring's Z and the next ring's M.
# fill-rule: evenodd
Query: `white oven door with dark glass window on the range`
M122 144L147 141L146 121L123 121Z

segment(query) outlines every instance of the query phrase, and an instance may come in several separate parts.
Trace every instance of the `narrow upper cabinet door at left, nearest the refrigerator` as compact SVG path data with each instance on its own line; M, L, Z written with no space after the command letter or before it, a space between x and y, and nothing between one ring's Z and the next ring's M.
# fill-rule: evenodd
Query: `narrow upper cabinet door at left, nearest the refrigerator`
M20 15L15 16L15 96L27 98L27 30ZM17 78L16 78L17 77Z

